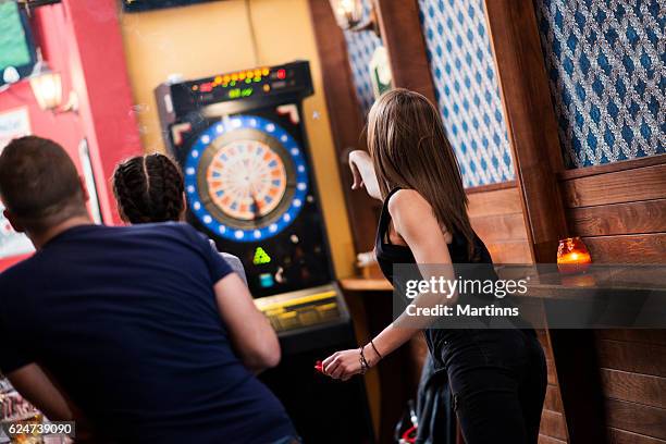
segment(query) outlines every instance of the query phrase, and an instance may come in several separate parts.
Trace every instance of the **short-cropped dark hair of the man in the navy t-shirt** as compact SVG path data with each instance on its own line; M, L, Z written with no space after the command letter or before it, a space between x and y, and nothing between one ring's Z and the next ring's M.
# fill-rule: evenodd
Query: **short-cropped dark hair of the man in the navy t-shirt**
M0 198L33 232L87 214L74 162L60 145L36 136L14 139L2 151Z

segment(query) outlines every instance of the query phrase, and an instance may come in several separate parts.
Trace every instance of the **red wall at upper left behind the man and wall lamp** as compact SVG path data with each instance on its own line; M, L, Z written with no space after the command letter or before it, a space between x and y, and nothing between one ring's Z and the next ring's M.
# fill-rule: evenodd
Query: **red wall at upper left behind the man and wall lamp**
M63 101L78 96L78 111L41 111L29 83L0 92L0 112L27 107L32 133L61 144L81 169L78 145L88 140L104 223L120 219L109 186L115 164L143 152L127 78L114 0L63 0L38 8L32 18L36 45L62 76ZM0 270L16 259L0 260Z

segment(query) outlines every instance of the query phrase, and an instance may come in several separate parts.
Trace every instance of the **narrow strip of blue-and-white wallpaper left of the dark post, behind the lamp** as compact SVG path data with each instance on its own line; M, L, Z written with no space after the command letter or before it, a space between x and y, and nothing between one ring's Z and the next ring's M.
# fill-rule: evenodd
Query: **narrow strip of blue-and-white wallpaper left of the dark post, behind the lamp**
M371 0L362 0L363 10L361 23L365 23L370 16L370 1ZM347 53L349 55L354 86L356 86L356 94L358 95L361 111L363 115L366 115L374 102L369 67L370 59L372 59L374 50L382 45L382 40L370 30L362 30L360 33L345 30L344 34L347 40Z

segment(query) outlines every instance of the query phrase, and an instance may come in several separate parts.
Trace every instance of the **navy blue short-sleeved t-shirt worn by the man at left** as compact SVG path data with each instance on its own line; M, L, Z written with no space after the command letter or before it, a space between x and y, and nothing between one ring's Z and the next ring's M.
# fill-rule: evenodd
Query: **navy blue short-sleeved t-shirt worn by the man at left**
M0 274L0 369L41 365L121 442L291 435L232 350L212 289L230 272L186 224L67 230Z

